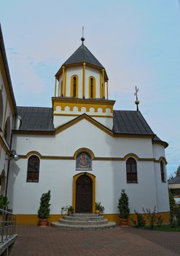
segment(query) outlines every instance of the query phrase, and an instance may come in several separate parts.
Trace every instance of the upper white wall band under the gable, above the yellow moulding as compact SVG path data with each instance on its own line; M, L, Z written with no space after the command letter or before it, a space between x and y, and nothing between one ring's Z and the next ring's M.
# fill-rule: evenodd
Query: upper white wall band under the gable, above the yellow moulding
M42 155L73 156L79 148L90 148L95 157L124 157L134 153L152 158L150 138L113 138L86 119L82 119L56 136L15 135L17 154L39 151Z

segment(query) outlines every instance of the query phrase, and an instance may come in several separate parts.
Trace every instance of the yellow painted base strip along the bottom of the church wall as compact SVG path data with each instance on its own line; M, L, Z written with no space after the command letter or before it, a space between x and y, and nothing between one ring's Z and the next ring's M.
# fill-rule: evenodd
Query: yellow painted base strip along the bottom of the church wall
M169 212L160 212L158 213L163 217L163 223L169 222ZM109 222L116 222L117 225L120 225L120 217L118 214L103 214L105 219L108 219ZM58 222L58 219L63 218L62 214L51 214L48 222ZM130 214L129 225L133 225L131 219L136 219L136 214ZM17 214L17 224L20 225L38 225L39 219L36 214Z

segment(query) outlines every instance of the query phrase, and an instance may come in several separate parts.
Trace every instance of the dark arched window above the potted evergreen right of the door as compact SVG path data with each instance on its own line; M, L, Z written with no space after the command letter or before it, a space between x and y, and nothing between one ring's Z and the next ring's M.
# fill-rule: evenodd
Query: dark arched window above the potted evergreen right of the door
M128 158L126 161L126 173L128 183L137 183L137 164L133 157Z

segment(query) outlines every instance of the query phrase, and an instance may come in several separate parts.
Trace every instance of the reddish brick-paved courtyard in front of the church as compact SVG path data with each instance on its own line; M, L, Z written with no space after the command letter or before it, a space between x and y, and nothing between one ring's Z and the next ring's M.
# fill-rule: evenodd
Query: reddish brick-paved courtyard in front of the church
M10 256L177 256L180 234L116 227L101 231L69 231L55 227L17 226Z

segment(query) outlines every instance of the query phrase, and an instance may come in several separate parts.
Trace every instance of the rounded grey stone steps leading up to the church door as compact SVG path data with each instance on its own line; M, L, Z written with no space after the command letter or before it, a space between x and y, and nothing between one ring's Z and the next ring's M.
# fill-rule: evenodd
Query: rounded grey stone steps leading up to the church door
M116 223L108 222L98 214L70 214L51 225L63 230L106 230L115 227Z

